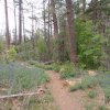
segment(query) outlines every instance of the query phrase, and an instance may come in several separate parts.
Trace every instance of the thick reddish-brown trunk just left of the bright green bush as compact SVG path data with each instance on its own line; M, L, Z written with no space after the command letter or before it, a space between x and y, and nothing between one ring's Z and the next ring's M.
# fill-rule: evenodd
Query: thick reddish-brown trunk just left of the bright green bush
M76 37L75 37L75 23L74 23L74 11L72 0L66 0L67 8L67 22L69 31L69 44L70 44L70 62L77 62L77 47L76 47Z

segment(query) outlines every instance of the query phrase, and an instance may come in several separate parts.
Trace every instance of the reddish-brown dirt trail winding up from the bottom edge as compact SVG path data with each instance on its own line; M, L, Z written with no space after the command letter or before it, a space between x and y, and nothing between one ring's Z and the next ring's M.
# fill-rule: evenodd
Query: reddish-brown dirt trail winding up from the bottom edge
M78 100L70 96L66 87L63 87L63 80L59 79L59 75L52 70L46 73L51 77L48 88L59 110L81 110Z

